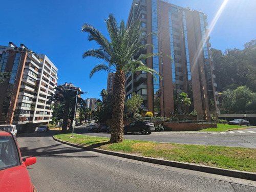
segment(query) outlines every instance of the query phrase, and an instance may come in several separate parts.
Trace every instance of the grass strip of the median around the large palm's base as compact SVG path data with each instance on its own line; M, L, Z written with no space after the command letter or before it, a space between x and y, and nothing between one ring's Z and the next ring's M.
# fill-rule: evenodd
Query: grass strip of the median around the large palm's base
M73 138L71 138L71 134L55 135L54 137L62 141L114 152L256 172L255 148L188 145L139 140L124 140L122 143L109 143L109 138L77 134L74 134Z

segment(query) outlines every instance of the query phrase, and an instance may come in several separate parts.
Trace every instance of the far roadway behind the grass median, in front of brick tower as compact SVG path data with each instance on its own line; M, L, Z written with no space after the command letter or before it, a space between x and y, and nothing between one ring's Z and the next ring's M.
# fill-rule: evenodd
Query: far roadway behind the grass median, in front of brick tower
M83 129L80 126L75 129L75 133L110 137L110 134L101 132L95 133ZM241 133L244 132L244 133ZM253 133L254 132L254 133ZM141 135L140 133L128 133L124 139L145 140L155 142L170 142L181 144L200 144L200 145L217 145L232 147L251 147L256 148L256 128L246 130L236 130L232 132L152 132L151 135Z

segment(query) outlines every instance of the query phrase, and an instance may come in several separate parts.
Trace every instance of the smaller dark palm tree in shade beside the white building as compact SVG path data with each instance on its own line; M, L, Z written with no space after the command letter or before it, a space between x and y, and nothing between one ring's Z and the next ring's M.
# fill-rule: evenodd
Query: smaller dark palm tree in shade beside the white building
M58 91L58 94L53 94L50 97L48 97L47 103L50 104L51 102L60 102L61 104L64 104L64 111L63 111L63 124L62 124L62 132L67 130L68 126L68 118L69 118L69 110L70 106L72 104L72 101L74 102L74 99L76 99L76 91L66 90L64 86L59 86L60 88L56 87L55 89ZM78 91L78 95L83 94L83 92ZM73 114L74 117L74 114Z

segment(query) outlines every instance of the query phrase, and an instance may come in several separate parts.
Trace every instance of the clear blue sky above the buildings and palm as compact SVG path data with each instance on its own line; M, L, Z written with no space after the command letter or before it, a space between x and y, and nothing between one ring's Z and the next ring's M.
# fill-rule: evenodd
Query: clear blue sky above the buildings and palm
M168 0L169 3L202 11L207 15L211 47L244 49L244 44L256 39L256 1L228 0L215 19L224 0ZM104 18L113 13L120 23L126 23L132 0L12 0L1 2L0 45L26 45L36 53L45 54L58 68L58 84L72 82L86 93L82 98L99 98L106 89L106 72L89 74L102 60L82 58L84 51L98 48L81 33L84 23L92 24L107 36Z

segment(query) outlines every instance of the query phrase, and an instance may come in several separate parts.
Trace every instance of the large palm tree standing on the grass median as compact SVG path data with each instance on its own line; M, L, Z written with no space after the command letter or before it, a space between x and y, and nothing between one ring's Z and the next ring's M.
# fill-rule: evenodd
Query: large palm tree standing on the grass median
M142 36L140 30L140 22L137 20L134 25L125 28L122 20L118 26L113 14L109 15L105 20L108 29L110 41L104 37L100 31L90 24L84 24L81 32L89 33L88 40L96 41L100 46L99 49L91 49L83 53L83 58L92 56L103 59L104 62L96 65L90 73L90 77L94 73L104 70L107 72L115 72L113 84L113 115L112 115L112 132L110 142L123 141L123 108L125 99L125 77L124 74L137 71L145 71L151 73L154 77L158 75L156 71L144 66L142 60L157 54L140 55L134 58L134 55L141 49L146 49L148 44L143 44L149 35ZM155 77L156 79L156 77Z

